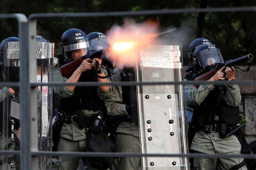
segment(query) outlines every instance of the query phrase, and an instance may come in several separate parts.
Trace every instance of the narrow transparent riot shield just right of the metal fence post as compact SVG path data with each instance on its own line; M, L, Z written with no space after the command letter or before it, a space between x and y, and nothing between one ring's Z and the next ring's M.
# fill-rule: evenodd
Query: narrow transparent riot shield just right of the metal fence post
M53 82L54 43L37 42L37 82ZM47 85L39 85L42 93L38 103L38 149L51 151L52 148L52 112L53 89ZM51 156L39 156L39 169L51 169Z

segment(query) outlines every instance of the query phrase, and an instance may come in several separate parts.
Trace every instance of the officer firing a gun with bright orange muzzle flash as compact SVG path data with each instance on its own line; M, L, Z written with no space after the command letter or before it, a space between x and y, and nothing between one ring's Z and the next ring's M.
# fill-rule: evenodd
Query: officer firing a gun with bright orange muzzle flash
M80 59L91 50L91 43L87 35L77 28L65 31L61 36L61 57L70 62ZM82 60L72 75L63 77L60 67L54 68L54 82L110 82L106 70L101 67L100 58ZM69 64L69 63L68 63ZM65 65L64 65L65 66ZM71 66L69 67L71 69ZM83 151L86 146L86 133L89 132L95 114L102 111L105 98L111 95L109 85L79 87L59 86L54 89L61 96L61 112L66 115L61 128L57 151ZM79 157L59 156L60 169L76 170ZM88 169L94 169L86 161Z

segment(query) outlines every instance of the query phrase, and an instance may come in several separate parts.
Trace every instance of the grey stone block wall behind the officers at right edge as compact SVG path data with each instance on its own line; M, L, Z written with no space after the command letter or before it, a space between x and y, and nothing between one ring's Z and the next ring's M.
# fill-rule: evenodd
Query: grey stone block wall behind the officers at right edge
M187 66L184 66L184 75ZM241 69L247 69L247 66L238 66ZM256 80L256 67L252 67L249 72L243 72L236 69L235 78L239 80L255 81ZM246 140L250 143L256 140L256 84L253 85L239 85L240 93L242 96L239 110L241 116L246 119L245 135Z

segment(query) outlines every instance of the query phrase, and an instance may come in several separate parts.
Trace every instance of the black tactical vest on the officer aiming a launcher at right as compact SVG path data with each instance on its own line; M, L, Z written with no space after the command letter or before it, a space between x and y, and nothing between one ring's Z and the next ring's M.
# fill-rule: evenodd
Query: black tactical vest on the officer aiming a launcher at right
M206 124L225 123L227 126L233 126L241 121L238 106L229 106L224 96L226 94L226 86L221 90L215 87L207 95L200 106L189 106L194 109L191 125L198 129L203 129Z

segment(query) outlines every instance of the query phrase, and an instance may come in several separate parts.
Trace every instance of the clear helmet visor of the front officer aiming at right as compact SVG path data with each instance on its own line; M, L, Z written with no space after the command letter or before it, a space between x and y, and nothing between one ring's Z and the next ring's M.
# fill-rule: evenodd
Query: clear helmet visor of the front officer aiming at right
M210 48L200 51L197 54L197 58L200 67L213 67L217 63L224 63L224 60L218 48Z

